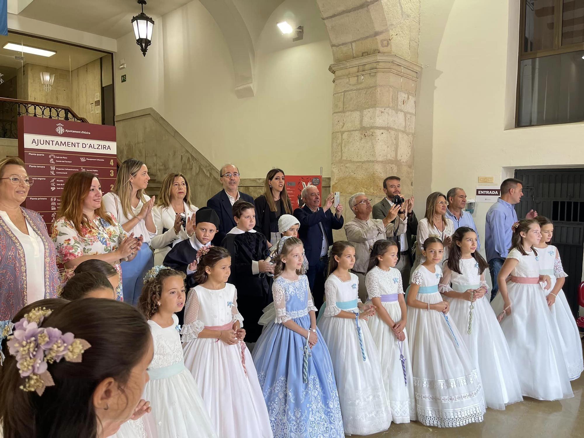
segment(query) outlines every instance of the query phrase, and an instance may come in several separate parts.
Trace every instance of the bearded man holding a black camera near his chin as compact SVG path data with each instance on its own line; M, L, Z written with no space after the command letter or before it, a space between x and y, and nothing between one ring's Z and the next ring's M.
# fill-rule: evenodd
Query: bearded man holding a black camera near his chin
M413 196L404 199L401 195L401 179L399 176L388 176L383 180L383 191L385 197L383 200L373 206L373 218L383 219L387 216L388 211L394 206L399 205L398 216L394 219L394 240L398 244L398 264L395 268L402 274L404 284L409 284L409 275L413 265L412 247L416 234L418 234L418 219L413 213ZM406 217L406 227L399 226L402 218Z

